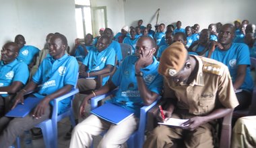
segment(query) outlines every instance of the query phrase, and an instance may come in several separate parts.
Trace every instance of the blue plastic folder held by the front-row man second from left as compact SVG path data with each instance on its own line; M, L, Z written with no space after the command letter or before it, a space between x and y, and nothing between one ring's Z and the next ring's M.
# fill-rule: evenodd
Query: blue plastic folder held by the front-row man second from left
M40 100L42 100L42 98L26 98L23 105L18 104L15 108L13 108L13 110L7 112L5 116L23 118L29 114L34 107L36 107Z

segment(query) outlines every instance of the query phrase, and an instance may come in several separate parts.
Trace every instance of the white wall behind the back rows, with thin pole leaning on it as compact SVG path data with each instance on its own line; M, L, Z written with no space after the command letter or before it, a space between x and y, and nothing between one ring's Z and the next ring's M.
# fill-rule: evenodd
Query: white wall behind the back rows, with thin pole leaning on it
M200 30L211 23L232 23L234 20L249 20L256 23L255 0L123 0L125 23L137 26L142 19L143 25L156 24L156 10L160 8L158 24L172 24L180 20L182 28L198 23Z

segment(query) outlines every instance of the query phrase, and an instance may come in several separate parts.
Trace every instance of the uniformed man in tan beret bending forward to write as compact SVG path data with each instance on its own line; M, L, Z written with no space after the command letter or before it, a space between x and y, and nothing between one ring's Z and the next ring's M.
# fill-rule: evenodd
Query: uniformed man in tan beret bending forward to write
M182 139L185 147L214 147L215 120L238 105L228 67L189 55L181 42L174 42L163 52L158 72L165 80L164 116L189 120L181 128L159 124L148 134L143 147L172 147L177 139Z

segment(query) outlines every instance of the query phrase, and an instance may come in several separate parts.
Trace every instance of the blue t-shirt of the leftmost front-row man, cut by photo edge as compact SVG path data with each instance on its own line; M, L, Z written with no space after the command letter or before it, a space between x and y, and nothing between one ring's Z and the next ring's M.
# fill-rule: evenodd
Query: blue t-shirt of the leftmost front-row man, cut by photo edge
M20 81L26 85L30 72L28 65L15 59L7 65L0 61L0 75L0 87L9 86L14 81ZM1 96L6 97L8 95L3 94Z

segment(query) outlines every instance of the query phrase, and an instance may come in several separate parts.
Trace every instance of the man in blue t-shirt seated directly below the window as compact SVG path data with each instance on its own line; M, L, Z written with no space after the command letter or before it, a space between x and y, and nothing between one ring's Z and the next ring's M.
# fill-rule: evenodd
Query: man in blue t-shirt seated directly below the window
M77 59L78 63L82 63L88 52L94 47L92 45L93 39L92 34L86 34L84 44L79 42L78 38L75 39L75 46L70 54Z

